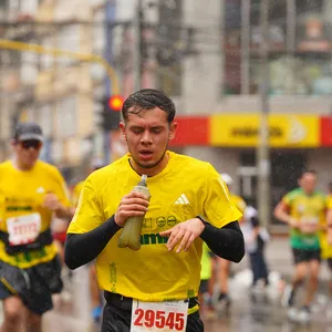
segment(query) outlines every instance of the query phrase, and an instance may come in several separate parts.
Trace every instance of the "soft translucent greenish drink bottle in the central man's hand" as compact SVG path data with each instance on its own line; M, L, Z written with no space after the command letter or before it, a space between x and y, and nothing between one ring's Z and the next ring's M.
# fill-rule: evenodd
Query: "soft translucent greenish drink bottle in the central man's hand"
M142 175L141 181L134 187L134 191L141 193L148 198L151 197L149 190L146 186L147 175ZM120 248L128 247L133 250L138 250L141 248L141 230L143 225L144 216L129 217L122 230L118 238L117 246Z

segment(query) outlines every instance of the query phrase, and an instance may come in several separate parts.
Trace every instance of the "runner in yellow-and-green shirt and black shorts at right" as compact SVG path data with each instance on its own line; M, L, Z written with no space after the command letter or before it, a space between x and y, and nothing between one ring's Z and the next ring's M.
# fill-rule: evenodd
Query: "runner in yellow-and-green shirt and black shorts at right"
M290 287L286 288L282 304L294 307L298 288L309 274L307 295L299 312L290 310L291 319L310 320L310 304L318 288L321 262L320 232L325 222L326 198L315 189L317 173L304 170L295 188L282 197L274 216L290 226L290 242L295 270Z

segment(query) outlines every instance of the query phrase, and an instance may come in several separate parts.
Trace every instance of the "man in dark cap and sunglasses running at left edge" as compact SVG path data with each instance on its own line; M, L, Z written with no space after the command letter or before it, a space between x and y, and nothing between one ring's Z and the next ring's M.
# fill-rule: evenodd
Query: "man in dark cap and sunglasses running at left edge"
M52 215L71 216L60 172L39 160L43 144L35 123L18 125L13 158L0 164L0 299L1 332L40 332L41 317L62 290L61 264L52 243Z

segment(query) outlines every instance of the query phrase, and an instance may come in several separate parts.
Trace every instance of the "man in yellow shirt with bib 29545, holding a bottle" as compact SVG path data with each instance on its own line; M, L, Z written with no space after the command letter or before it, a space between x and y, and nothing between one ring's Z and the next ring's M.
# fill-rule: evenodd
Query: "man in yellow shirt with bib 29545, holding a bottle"
M68 230L65 261L74 269L97 258L106 299L103 332L204 331L197 302L203 242L240 261L241 214L210 164L167 149L175 106L163 92L129 95L122 115L129 154L86 179ZM149 200L132 190L142 175L148 176ZM127 218L144 215L141 249L120 248Z

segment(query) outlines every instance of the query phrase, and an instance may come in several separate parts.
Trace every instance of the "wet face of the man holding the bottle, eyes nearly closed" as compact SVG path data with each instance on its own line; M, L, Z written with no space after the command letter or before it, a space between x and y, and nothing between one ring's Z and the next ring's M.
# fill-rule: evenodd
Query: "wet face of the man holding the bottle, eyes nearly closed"
M132 167L138 174L156 175L167 165L166 151L174 137L176 123L167 122L167 113L158 107L128 112L122 133L131 153Z

